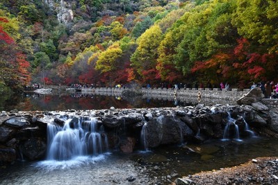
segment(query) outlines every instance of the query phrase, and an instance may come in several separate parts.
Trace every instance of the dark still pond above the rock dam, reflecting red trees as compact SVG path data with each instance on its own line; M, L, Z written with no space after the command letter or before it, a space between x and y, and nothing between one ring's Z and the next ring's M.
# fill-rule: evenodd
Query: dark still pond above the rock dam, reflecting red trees
M158 100L151 98L123 99L118 96L98 96L95 94L19 94L0 97L0 111L28 110L65 110L65 109L109 109L115 107L124 108L147 108L147 107L176 107L186 106L177 100Z

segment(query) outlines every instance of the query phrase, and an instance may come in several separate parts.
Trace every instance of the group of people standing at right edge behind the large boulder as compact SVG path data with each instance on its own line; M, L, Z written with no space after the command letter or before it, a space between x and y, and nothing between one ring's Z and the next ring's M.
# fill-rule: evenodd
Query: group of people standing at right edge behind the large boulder
M278 98L278 82L275 85L275 82L259 82L259 83L255 83L253 82L251 89L253 89L254 87L260 87L261 91L263 91L263 94L265 95L265 98ZM273 92L273 93L272 93Z

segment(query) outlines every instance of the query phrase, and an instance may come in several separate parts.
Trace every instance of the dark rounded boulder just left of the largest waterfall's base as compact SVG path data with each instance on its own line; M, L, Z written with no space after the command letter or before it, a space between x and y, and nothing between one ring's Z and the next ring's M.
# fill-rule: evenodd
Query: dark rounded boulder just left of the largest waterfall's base
M20 146L20 150L25 157L33 161L44 157L47 151L47 145L41 139L31 138Z

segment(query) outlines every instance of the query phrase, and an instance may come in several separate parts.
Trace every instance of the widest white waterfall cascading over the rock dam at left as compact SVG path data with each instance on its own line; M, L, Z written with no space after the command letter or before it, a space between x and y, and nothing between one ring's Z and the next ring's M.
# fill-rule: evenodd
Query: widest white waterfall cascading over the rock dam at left
M97 130L95 118L70 118L63 127L49 123L47 136L48 160L65 161L108 151L107 136Z

